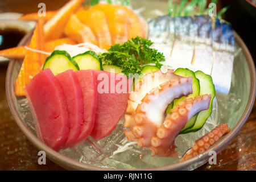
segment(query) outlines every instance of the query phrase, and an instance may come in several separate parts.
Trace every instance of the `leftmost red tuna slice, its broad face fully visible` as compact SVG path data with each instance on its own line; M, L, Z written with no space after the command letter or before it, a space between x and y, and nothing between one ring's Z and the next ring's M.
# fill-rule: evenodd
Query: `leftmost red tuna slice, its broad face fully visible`
M36 121L38 138L59 151L69 135L68 110L63 89L49 68L27 84L26 96Z

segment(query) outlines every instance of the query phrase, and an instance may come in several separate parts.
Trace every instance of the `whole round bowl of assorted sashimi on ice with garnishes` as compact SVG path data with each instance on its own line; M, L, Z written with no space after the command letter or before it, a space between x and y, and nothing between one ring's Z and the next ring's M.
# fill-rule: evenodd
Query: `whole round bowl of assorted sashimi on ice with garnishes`
M248 68L234 65L243 54L232 25L209 11L197 0L71 0L45 16L20 16L35 29L0 51L15 59L10 93L20 127L66 168L205 163L250 89L234 81L242 75L248 84L240 75Z

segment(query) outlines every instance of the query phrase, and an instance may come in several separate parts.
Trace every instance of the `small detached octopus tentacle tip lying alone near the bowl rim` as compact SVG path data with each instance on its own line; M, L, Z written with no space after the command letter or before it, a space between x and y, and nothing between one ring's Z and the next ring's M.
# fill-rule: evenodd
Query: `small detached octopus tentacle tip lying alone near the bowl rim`
M196 140L195 144L193 144L191 150L187 151L183 158L180 160L181 162L184 160L191 159L193 156L197 156L202 154L210 146L216 143L223 135L229 133L230 129L226 123L222 123L217 126L215 129L210 131L208 134L204 135L200 139Z

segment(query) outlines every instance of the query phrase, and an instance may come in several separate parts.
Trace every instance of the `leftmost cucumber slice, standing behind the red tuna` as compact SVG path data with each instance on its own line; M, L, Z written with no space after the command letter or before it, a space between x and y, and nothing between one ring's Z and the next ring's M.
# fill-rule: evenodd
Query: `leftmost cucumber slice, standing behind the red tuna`
M46 58L43 70L49 68L54 75L58 75L68 69L79 70L79 65L71 58L67 51L55 50Z

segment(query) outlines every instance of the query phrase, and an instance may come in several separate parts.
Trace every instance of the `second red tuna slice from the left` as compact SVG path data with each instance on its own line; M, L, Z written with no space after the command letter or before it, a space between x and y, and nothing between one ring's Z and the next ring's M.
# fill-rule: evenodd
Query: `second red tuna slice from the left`
M56 78L60 82L60 86L63 89L64 96L67 101L70 131L65 147L71 147L76 143L76 139L81 133L84 112L82 90L75 72L71 69L56 75Z

